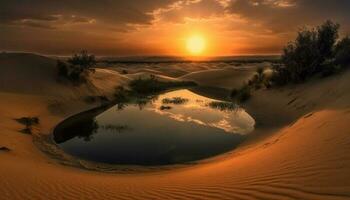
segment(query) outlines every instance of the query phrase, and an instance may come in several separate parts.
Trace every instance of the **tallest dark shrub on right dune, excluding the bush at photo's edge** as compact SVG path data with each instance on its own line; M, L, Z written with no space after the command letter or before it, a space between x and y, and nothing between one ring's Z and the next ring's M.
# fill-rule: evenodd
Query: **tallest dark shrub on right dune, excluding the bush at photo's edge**
M276 65L274 79L280 84L298 83L322 72L325 63L334 57L338 30L339 24L331 21L316 29L301 30L296 40L284 48L283 66Z

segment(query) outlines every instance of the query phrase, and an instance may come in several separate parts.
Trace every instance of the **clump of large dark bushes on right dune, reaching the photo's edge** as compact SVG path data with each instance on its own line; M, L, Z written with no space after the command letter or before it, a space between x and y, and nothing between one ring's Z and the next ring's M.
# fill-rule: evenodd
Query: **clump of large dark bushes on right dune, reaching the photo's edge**
M301 83L321 74L329 76L350 64L350 39L339 38L340 25L326 21L321 26L299 31L284 49L281 64L274 65L275 85Z

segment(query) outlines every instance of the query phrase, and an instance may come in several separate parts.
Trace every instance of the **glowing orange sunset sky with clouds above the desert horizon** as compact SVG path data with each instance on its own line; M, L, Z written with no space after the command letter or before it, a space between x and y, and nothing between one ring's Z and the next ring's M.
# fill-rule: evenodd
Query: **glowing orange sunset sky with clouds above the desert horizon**
M0 50L69 55L279 54L327 19L350 34L350 0L1 0ZM186 46L187 45L187 46Z

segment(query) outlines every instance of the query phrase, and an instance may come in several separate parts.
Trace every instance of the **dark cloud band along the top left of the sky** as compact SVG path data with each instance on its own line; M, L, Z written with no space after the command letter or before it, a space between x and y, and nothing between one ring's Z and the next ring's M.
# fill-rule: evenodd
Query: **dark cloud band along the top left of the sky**
M86 16L115 25L149 24L149 13L175 0L11 0L0 1L0 23L30 19L52 21L56 15Z

